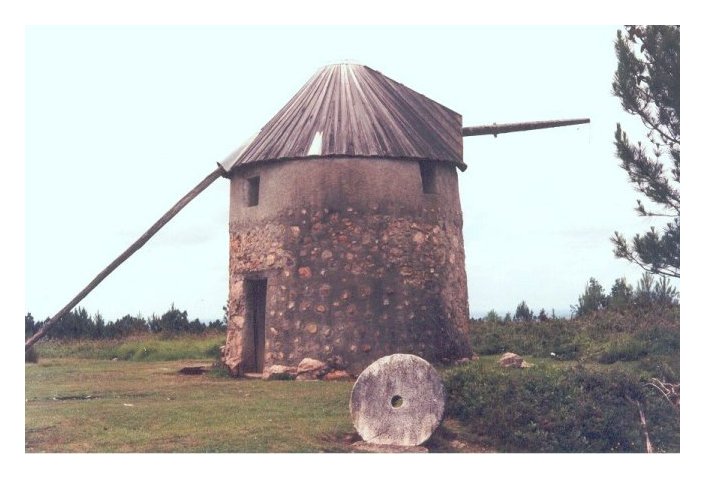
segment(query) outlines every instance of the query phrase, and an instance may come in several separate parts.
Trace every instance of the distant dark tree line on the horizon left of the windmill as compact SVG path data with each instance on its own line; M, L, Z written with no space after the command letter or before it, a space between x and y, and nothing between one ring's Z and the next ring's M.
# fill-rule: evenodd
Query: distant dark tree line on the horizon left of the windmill
M24 318L25 339L39 331L44 323L45 321L35 321L32 313L27 313ZM209 323L201 322L198 318L189 320L188 312L175 308L173 304L160 316L152 314L150 318L145 319L142 315L127 314L116 321L105 321L100 312L90 315L84 308L78 307L56 323L46 337L49 339L119 339L141 334L201 334L210 331L225 332L226 326L225 321L221 319Z

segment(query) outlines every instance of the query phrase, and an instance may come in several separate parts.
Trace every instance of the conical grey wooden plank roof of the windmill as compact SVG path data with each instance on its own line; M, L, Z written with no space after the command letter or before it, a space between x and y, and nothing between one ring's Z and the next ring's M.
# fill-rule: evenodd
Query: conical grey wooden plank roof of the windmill
M465 170L461 116L364 65L327 65L224 163L312 157L447 161Z

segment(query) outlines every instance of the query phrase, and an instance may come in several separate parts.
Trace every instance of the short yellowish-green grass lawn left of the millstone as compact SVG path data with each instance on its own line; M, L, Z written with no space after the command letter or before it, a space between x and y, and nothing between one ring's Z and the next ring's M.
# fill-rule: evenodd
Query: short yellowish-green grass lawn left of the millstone
M331 438L354 433L350 382L177 373L193 363L40 359L27 364L25 450L339 451L344 446ZM80 399L87 396L91 399Z

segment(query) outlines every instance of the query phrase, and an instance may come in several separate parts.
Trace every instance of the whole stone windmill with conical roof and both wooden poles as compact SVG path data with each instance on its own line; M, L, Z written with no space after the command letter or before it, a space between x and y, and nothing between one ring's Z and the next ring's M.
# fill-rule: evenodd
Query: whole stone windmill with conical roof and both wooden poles
M363 65L320 69L31 338L41 339L219 177L230 179L224 360L240 376L304 357L358 373L392 353L470 352L458 170L463 137L588 119L463 127Z

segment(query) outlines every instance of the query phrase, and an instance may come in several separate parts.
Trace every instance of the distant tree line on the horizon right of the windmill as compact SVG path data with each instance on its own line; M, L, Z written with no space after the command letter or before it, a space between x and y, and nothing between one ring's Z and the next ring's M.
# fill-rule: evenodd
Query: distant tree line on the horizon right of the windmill
M665 276L655 279L654 275L644 273L637 282L636 287L630 285L625 278L615 280L610 292L607 293L595 278L590 278L585 285L585 291L578 297L578 304L571 305L571 317L581 317L603 309L624 311L629 308L652 308L659 306L673 306L679 304L678 290L671 285ZM484 321L548 321L564 319L556 316L555 311L549 315L545 309L538 314L521 301L514 315L506 313L501 316L494 309L482 318L473 318Z

